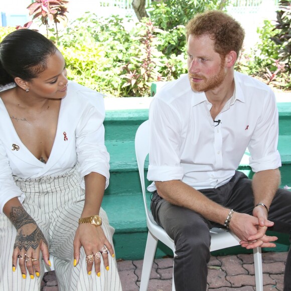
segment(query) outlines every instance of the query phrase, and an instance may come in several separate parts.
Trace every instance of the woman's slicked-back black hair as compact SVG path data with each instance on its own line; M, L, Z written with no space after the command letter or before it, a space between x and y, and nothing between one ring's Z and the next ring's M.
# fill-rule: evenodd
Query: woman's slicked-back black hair
M16 30L0 43L0 85L37 77L47 67L47 59L57 51L42 34L29 29Z

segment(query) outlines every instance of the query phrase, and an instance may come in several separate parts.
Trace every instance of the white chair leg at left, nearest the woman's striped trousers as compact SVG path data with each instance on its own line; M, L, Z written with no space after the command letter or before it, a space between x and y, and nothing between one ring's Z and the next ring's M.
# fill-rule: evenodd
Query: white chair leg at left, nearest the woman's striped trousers
M149 231L147 244L145 245L143 265L140 278L139 291L147 291L154 257L157 249L158 239Z

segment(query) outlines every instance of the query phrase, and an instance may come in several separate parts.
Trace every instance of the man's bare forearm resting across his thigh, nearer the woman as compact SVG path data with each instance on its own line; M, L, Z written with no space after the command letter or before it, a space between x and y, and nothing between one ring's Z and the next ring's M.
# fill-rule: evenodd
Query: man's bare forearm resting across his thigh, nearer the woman
M224 224L229 209L208 199L198 190L179 180L155 183L158 194L170 203L189 208L206 219Z

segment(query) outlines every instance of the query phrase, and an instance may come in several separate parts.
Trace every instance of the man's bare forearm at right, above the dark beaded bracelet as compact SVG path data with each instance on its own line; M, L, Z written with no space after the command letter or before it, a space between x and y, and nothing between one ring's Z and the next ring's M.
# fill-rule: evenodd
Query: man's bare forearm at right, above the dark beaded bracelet
M280 171L265 170L255 173L252 180L254 206L263 203L269 209L274 195L280 185Z

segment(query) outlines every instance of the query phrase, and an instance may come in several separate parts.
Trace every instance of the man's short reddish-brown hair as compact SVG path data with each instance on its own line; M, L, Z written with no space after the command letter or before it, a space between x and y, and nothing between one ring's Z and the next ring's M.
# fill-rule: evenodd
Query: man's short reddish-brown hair
M187 40L190 35L208 35L214 40L214 50L221 56L235 51L237 56L242 48L244 29L228 14L221 11L207 11L196 15L186 26Z

